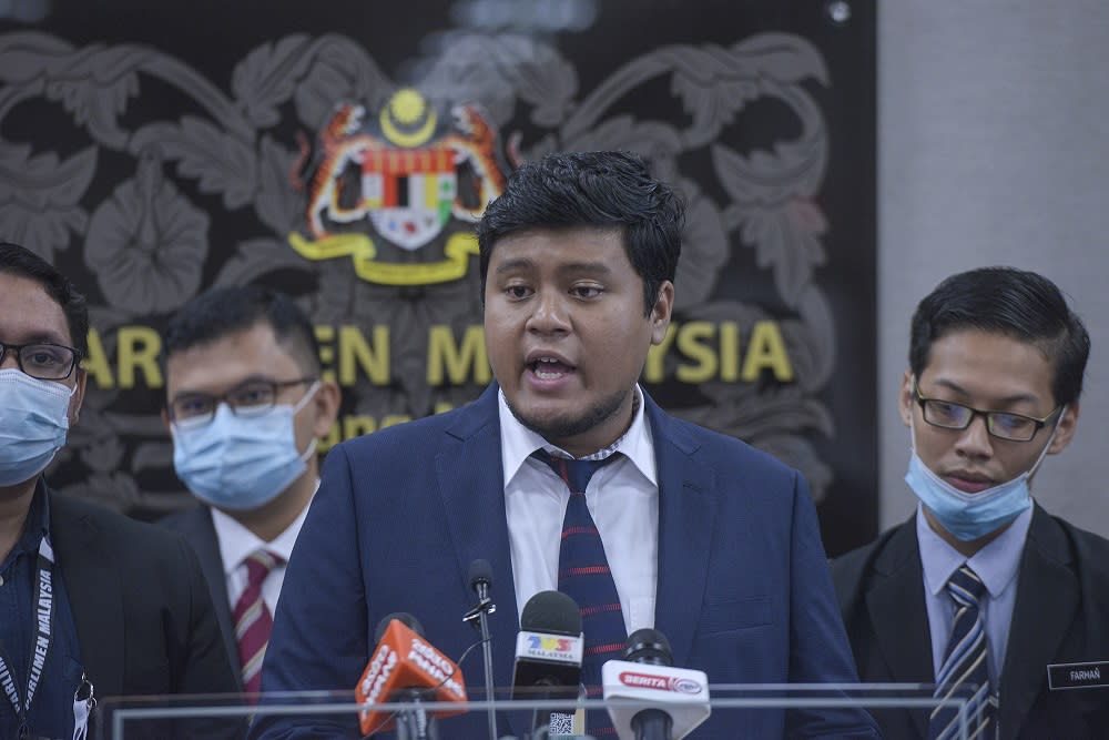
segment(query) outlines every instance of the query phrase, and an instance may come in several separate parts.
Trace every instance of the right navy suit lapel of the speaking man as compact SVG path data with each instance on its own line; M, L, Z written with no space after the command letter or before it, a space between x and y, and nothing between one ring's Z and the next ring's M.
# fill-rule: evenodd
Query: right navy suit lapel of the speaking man
M711 468L690 456L698 443L644 393L659 475L659 580L654 625L685 666L700 622L716 514Z

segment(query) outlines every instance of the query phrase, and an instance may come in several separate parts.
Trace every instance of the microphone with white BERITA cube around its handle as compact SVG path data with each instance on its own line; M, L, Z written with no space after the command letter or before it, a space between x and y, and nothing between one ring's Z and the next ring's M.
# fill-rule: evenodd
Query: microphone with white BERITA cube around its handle
M601 666L604 700L632 699L651 707L609 707L620 740L680 740L709 718L704 671L674 668L665 635L638 629L624 642L624 659Z

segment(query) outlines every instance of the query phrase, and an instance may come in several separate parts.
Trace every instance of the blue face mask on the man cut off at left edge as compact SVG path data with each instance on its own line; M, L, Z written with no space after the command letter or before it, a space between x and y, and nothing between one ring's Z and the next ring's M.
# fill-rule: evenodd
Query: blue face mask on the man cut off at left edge
M0 369L0 486L42 473L65 444L77 386Z

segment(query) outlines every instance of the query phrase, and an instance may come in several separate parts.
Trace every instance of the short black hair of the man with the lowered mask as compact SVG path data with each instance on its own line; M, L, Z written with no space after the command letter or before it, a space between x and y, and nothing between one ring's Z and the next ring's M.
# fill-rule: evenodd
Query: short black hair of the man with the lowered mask
M948 332L1001 334L1036 346L1055 365L1056 404L1072 404L1082 393L1090 335L1055 283L1014 267L980 267L952 275L913 314L908 363L913 373L928 365L932 344Z

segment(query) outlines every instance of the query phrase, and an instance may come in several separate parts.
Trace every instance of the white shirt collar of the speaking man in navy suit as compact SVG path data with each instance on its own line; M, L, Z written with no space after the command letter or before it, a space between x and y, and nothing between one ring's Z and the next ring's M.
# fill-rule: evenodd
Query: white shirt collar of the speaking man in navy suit
M635 414L632 416L631 426L622 437L612 445L604 448L607 453L623 453L632 462L635 468L652 485L658 486L658 467L654 460L654 444L651 438L651 428L643 414L643 393L637 384ZM508 401L505 392L497 393L497 405L500 414L500 455L503 464L505 486L520 472L531 453L537 449L554 450L566 457L572 457L566 450L556 447L543 439L542 436L520 424L519 419L512 415L508 408ZM592 456L589 456L592 457Z

